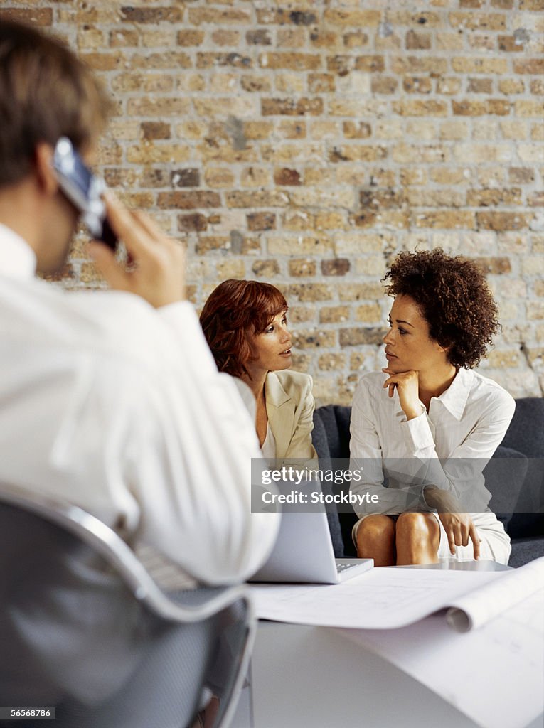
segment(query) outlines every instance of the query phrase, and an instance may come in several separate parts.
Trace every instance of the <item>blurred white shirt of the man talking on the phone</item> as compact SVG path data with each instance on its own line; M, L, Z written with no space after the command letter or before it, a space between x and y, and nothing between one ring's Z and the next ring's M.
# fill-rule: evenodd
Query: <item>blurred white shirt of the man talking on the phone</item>
M34 277L0 225L0 481L69 500L210 583L247 577L274 514L251 513L259 443L188 302Z

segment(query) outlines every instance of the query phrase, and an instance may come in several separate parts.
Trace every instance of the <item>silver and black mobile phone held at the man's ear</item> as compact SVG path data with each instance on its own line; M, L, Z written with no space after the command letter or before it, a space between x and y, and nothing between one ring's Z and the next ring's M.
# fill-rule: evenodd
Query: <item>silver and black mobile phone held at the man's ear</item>
M102 199L106 185L85 165L68 137L60 137L55 145L53 169L60 189L81 213L82 222L92 237L115 250L117 236L106 217L106 205Z

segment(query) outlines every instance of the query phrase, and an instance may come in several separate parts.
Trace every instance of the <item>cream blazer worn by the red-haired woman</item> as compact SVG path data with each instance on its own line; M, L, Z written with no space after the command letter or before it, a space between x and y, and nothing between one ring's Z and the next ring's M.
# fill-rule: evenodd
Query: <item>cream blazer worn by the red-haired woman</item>
M277 458L317 458L312 445L312 377L299 371L269 371L264 397Z

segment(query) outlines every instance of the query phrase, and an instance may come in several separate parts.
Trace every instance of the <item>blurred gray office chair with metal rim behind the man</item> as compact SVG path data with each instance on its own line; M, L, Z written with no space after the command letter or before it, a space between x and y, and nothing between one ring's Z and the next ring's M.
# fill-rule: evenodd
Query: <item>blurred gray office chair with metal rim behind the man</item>
M255 626L245 587L166 595L94 516L0 485L0 706L56 709L13 726L185 728L211 691L224 728Z

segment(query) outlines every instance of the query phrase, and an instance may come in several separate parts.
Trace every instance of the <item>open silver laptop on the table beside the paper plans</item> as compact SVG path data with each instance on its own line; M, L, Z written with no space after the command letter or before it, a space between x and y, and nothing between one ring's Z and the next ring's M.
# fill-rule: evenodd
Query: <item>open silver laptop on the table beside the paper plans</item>
M283 513L272 553L250 581L337 584L372 566L371 558L334 558L326 513Z

